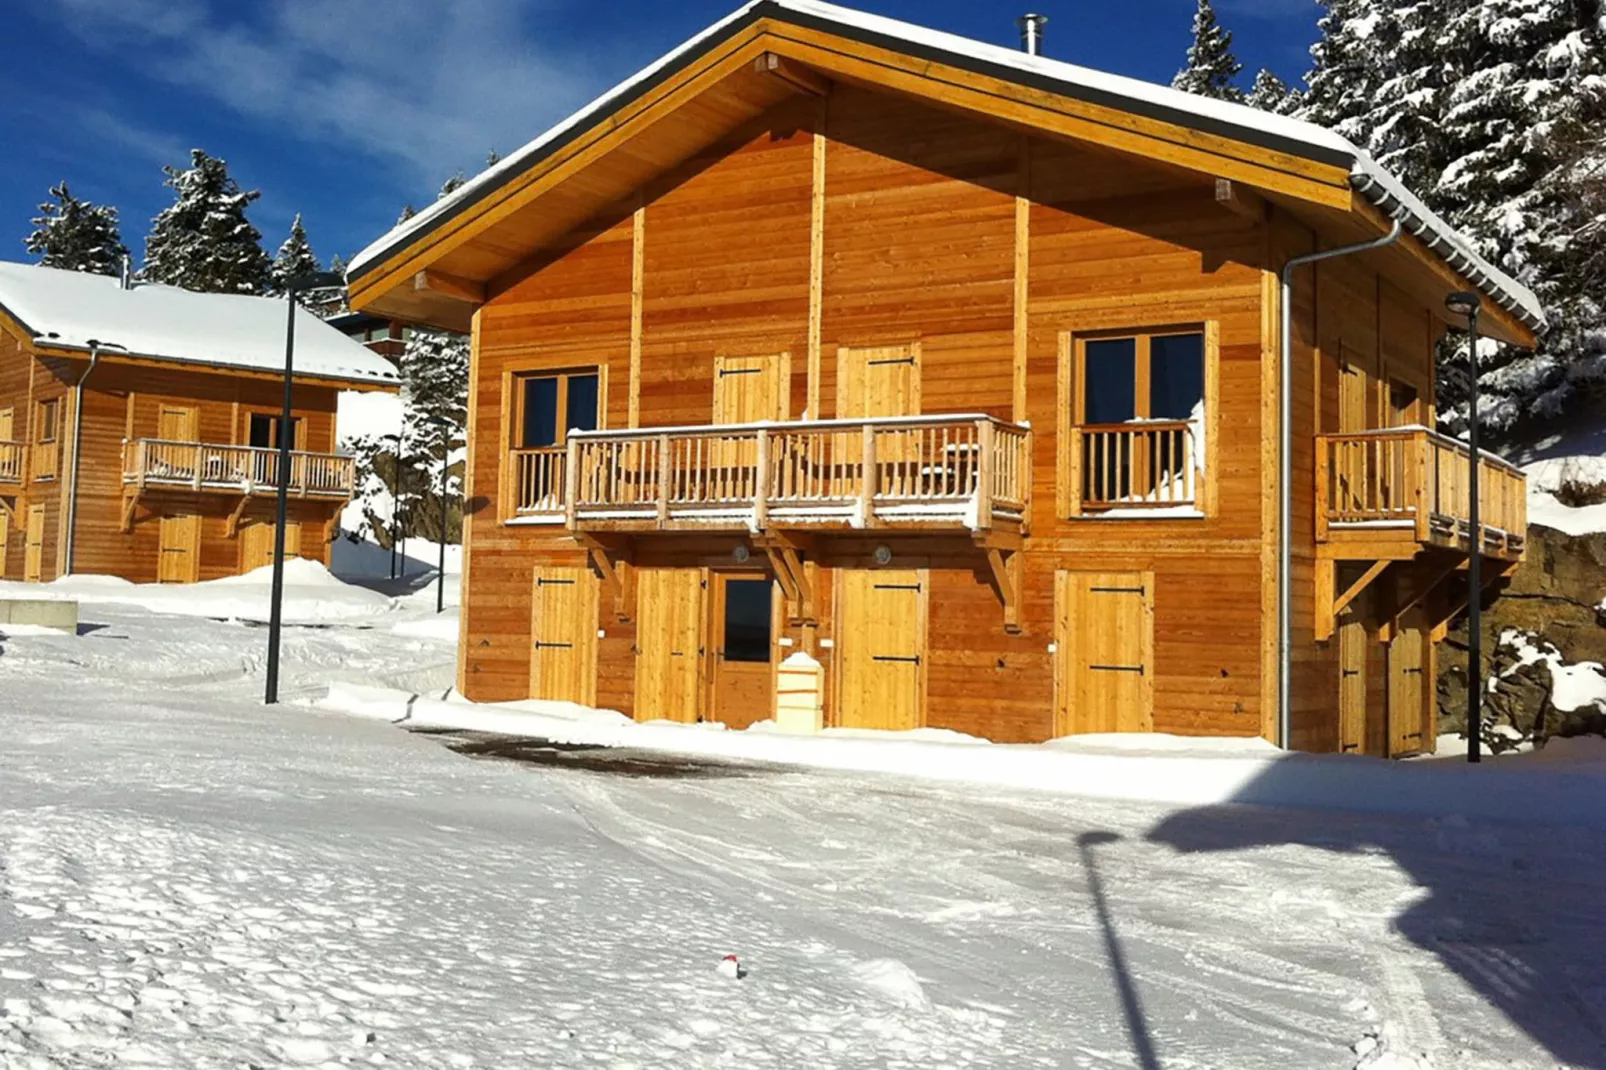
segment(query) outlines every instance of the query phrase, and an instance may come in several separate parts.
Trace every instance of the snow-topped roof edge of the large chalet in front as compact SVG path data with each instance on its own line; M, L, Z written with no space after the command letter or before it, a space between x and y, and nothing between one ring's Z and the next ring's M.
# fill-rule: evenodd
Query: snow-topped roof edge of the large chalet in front
M1362 196L1383 209L1389 217L1399 218L1405 230L1416 235L1416 238L1444 257L1457 272L1482 288L1486 294L1494 297L1506 312L1518 317L1529 328L1539 329L1545 326L1545 313L1529 288L1482 259L1463 235L1429 210L1372 156L1325 127L1304 122L1302 119L1277 116L1246 104L1195 96L1193 93L1184 93L1166 85L1094 71L1060 59L1049 59L1047 56L1033 56L1013 48L989 45L880 14L854 11L835 3L824 3L824 0L750 0L652 66L644 67L641 72L602 93L517 153L480 172L450 196L435 201L418 215L390 228L389 233L369 244L352 260L350 276L357 278L371 270L379 260L406 241L432 230L435 225L493 193L506 180L556 151L573 135L605 119L617 108L646 92L673 69L760 18L809 24L845 37L874 39L877 43L903 53L927 55L956 66L980 66L989 74L1031 84L1054 93L1108 104L1121 111L1148 114L1179 125L1204 129L1224 137L1293 153L1306 159L1347 167L1351 185Z

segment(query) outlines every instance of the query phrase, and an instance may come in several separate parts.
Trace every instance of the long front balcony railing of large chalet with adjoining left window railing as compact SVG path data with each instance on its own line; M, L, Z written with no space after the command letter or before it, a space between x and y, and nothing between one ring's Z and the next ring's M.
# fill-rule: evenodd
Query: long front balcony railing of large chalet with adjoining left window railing
M519 451L514 511L577 529L1020 527L1031 432L991 416L591 431Z

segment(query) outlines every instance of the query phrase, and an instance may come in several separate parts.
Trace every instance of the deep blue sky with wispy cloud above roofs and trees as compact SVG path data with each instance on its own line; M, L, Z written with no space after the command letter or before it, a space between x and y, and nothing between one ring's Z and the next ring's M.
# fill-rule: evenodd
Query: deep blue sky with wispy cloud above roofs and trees
M0 40L0 259L26 259L55 182L122 212L143 251L170 202L162 164L199 146L262 190L271 252L302 212L315 251L350 257L490 148L554 120L729 13L739 0L11 0ZM1047 55L1164 82L1195 0L854 0L1004 45L1046 13ZM1298 80L1315 0L1216 0L1245 84Z

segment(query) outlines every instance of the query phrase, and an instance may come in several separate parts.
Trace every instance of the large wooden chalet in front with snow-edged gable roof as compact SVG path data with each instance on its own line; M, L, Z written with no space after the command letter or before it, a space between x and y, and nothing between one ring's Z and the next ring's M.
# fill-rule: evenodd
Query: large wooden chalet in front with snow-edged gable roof
M1293 257L1383 238L1285 305ZM1522 553L1522 476L1478 461L1474 546L1433 431L1461 289L1543 326L1331 132L816 0L748 3L350 276L472 331L471 699L740 728L806 651L829 725L1380 755L1433 747L1469 554Z

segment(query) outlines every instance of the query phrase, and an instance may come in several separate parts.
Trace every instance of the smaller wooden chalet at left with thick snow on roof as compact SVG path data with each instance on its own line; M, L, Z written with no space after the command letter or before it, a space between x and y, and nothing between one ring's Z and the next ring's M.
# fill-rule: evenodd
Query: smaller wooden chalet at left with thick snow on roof
M0 263L0 577L193 583L270 564L281 476L286 553L328 564L353 490L336 398L400 384L299 310L281 427L284 320L267 297Z

